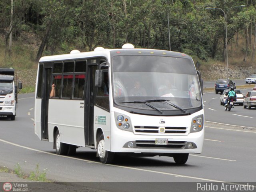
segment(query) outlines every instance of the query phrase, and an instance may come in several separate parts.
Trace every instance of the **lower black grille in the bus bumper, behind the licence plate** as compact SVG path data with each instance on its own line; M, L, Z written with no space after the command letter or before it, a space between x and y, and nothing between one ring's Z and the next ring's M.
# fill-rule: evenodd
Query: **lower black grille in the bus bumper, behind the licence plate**
M156 145L155 140L136 140L136 146L138 148L174 148L180 149L185 148L187 142L186 141L168 141L167 145Z

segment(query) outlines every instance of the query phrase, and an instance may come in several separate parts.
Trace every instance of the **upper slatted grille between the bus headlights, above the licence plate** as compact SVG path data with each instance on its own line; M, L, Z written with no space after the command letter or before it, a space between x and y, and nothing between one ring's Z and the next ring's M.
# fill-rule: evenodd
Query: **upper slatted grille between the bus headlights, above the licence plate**
M159 127L157 126L134 126L134 130L136 133L148 134L148 133L158 133ZM160 134L185 134L186 127L165 127L165 132Z

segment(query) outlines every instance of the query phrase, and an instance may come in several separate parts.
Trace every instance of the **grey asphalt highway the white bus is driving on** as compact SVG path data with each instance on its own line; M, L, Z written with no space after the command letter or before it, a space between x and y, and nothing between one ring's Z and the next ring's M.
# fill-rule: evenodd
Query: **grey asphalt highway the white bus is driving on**
M86 182L86 186L113 192L170 191L172 187L176 187L176 191L185 191L182 187L186 187L186 191L196 191L199 182L256 182L256 130L226 125L253 126L251 119L255 110L238 106L226 112L217 101L219 98L214 98L217 96L204 94L203 152L190 154L185 165L175 164L173 158L158 156L118 156L114 164L106 165L96 158L95 150L88 148L79 148L76 156L57 156L52 143L40 141L34 134L34 94L22 94L19 95L16 120L0 118L0 165L14 169L19 163L24 172L30 173L38 164L48 179ZM252 116L248 121L232 116L249 116L246 112ZM214 121L225 124L210 123Z

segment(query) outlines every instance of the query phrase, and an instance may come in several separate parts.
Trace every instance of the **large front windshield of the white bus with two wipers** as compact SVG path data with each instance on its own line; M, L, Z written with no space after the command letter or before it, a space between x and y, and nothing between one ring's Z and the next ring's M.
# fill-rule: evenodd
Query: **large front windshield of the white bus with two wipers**
M113 97L117 105L145 110L178 110L202 104L192 59L121 55L113 57L112 68Z

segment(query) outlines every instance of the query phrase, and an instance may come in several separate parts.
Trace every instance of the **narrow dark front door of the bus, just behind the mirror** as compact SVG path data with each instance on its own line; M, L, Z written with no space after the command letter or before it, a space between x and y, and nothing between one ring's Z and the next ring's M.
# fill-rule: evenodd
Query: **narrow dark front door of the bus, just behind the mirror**
M92 61L92 60L91 60ZM91 62L86 69L86 95L84 101L84 140L86 146L94 146L94 103L95 86L94 76L98 68L96 63Z

